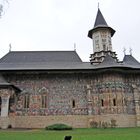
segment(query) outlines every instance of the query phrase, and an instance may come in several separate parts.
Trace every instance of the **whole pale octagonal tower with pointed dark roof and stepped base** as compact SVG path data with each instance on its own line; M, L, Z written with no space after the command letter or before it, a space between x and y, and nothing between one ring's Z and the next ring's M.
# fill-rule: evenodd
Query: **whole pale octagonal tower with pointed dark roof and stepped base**
M115 30L107 25L100 9L98 8L93 29L89 30L88 37L93 41L93 54L90 56L91 64L99 64L106 55L117 61L116 53L112 51L112 41Z

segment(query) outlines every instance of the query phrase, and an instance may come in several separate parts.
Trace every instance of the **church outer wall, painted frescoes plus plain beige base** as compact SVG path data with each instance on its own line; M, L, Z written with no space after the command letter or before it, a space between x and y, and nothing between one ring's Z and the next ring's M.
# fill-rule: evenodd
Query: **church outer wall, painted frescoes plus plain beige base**
M111 119L117 121L118 127L140 125L139 76L117 73L6 76L22 90L10 103L8 122L12 127L44 128L65 123L84 128L90 127L90 121Z

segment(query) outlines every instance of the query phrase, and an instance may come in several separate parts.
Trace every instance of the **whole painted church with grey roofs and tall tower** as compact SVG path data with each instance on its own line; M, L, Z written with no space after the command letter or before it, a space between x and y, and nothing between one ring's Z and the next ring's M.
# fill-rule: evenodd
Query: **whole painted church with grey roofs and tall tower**
M118 60L114 34L98 8L89 62L76 51L8 52L0 59L0 128L140 126L140 63L132 54Z

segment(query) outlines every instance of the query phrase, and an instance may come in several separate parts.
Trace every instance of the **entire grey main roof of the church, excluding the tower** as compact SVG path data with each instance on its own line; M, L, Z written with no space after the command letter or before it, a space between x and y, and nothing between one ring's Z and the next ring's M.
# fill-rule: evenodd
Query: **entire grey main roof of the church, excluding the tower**
M126 56L124 58L123 63L118 63L111 56L107 55L102 63L98 65L91 65L90 62L82 62L76 52L63 51L62 53L63 56L60 55L61 53L62 51L61 52L55 51L51 53L50 52L10 52L0 60L0 71L13 71L13 70L16 71L56 70L57 71L57 70L95 70L95 69L97 70L97 69L113 68L113 67L140 69L139 62L136 61L132 56ZM21 58L20 58L20 54L21 54ZM37 54L39 55L39 57L36 56ZM46 57L46 54L49 55ZM69 56L66 57L67 55ZM24 56L26 57L24 58ZM61 59L59 58L58 61L56 58L53 58L54 56L59 56Z

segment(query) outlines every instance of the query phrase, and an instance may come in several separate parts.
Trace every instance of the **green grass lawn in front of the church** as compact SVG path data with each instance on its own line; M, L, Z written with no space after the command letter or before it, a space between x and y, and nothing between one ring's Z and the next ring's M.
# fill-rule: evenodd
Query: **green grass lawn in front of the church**
M140 140L140 128L74 129L71 131L0 130L0 140Z

